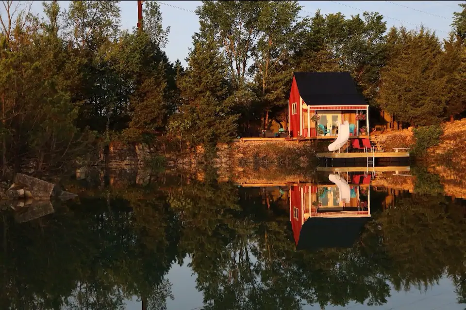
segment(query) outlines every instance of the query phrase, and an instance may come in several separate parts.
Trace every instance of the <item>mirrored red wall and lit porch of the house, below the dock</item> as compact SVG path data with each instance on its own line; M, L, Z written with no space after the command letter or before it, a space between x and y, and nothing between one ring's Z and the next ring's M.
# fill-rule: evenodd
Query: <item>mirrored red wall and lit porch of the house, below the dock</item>
M370 176L365 181L370 181ZM301 227L308 218L370 217L368 185L351 185L348 202L339 199L339 194L339 188L335 184L290 187L290 221L296 245L300 239Z

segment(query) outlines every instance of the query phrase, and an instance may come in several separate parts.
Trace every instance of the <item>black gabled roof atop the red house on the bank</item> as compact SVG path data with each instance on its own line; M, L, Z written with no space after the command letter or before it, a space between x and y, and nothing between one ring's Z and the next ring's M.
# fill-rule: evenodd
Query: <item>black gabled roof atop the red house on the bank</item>
M295 72L302 100L308 105L366 105L350 72Z

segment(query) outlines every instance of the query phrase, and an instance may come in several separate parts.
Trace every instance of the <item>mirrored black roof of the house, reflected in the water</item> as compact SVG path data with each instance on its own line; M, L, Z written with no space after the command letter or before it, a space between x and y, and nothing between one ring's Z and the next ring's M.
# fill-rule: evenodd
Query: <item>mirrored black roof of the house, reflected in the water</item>
M369 217L310 217L301 227L299 250L351 248Z

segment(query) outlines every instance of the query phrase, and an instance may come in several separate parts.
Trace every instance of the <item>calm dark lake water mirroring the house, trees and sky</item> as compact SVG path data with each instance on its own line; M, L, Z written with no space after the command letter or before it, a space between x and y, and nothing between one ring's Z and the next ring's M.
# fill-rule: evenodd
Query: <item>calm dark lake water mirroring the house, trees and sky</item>
M457 182L272 181L98 171L63 181L74 200L3 205L0 309L466 309Z

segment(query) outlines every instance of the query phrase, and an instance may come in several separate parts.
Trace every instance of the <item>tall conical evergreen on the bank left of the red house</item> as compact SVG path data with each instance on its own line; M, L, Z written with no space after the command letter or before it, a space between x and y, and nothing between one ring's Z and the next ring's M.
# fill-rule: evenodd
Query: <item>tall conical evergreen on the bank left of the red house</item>
M192 145L231 140L236 134L237 115L225 105L231 93L225 78L228 69L213 37L196 37L187 61L188 68L180 81L183 105L173 115L172 124L189 124L186 138Z

